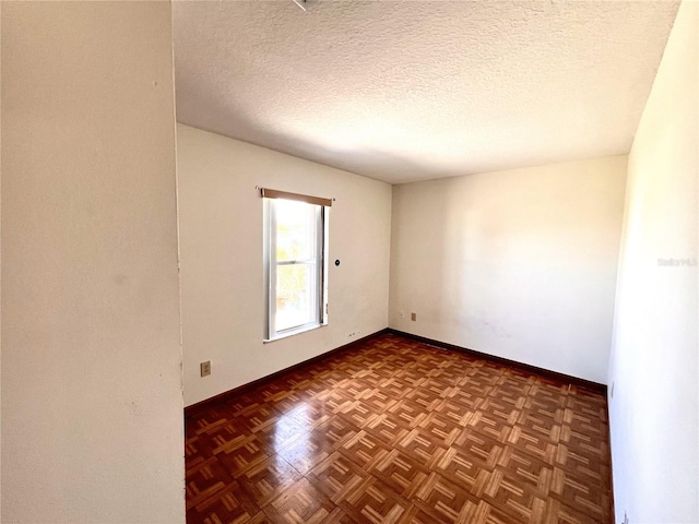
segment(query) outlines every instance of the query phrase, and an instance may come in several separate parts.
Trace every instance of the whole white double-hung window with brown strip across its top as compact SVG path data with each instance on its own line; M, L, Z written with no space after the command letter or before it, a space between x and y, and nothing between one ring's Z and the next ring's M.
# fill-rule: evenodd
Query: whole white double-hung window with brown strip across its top
M265 341L328 323L330 200L262 190L264 196Z

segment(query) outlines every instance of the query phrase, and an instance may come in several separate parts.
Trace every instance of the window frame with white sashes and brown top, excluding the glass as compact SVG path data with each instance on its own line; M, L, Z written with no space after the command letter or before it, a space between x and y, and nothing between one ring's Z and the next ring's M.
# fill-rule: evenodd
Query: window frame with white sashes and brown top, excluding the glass
M265 194L266 191L266 194ZM264 267L264 297L265 297L265 319L263 342L269 343L288 336L317 330L328 325L328 243L329 243L329 215L330 203L327 199L284 193L281 191L262 190L263 202L263 267ZM315 209L315 236L316 249L311 259L299 261L283 261L276 259L276 200L287 200L301 202ZM283 265L315 264L313 284L316 311L310 322L277 330L276 327L276 272Z

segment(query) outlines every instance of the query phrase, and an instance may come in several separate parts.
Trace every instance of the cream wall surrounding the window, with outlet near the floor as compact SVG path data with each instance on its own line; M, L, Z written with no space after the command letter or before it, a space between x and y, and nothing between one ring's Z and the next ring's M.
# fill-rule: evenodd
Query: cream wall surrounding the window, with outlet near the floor
M177 129L186 405L387 327L388 183L187 126ZM270 344L262 344L262 199L256 186L336 199L330 212L329 325ZM204 360L211 360L212 374L201 378Z

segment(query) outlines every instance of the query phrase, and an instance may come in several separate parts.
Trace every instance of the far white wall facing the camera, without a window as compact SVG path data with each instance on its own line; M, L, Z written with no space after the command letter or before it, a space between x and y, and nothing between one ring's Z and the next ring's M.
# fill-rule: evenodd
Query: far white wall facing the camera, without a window
M625 174L614 156L395 186L390 326L605 383Z

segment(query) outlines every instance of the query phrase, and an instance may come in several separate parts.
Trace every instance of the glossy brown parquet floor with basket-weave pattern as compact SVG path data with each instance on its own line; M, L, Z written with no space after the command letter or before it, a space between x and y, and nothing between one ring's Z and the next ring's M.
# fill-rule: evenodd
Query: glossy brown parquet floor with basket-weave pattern
M606 400L384 334L187 419L188 523L611 523Z

